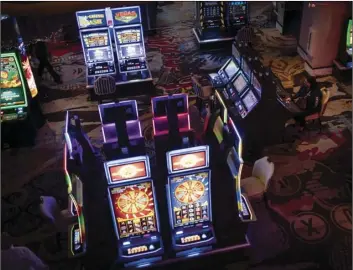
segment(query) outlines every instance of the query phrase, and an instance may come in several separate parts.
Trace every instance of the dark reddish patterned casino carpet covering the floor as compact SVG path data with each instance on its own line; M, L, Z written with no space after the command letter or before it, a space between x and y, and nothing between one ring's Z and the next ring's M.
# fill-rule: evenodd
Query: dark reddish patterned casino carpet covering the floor
M272 67L289 92L297 91L304 67L295 53L295 39L281 36L272 25L261 28L267 22L270 2L250 5L252 20L259 26L256 47L264 63ZM147 38L149 65L161 93L193 94L190 73L216 70L227 59L224 52L199 52L191 31L193 7L193 2L161 6L160 28L155 36ZM66 110L81 117L95 145L99 146L102 139L97 104L87 101L81 52L54 57L53 61L64 84L55 85L49 77L41 82L42 91L48 94L43 101L48 123L40 130L37 145L2 153L2 231L30 247L51 269L79 269L78 261L66 259L65 236L64 248L56 247L53 232L40 217L38 198L53 195L63 207L67 203L61 171ZM352 268L352 87L331 76L318 81L331 93L323 118L324 132L306 134L293 147L266 149L265 154L276 166L268 191L269 206L252 202L258 222L249 228L253 244L249 261L226 269ZM149 108L141 106L140 114L145 136L150 138ZM199 121L194 118L193 122ZM194 127L199 128L197 124ZM152 145L150 150L153 156ZM246 167L245 171L251 170L251 166Z

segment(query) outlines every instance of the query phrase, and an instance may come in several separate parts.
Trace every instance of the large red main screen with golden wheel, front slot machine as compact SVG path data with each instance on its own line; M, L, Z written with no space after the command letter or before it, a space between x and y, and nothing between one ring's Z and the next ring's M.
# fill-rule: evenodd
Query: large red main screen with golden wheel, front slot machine
M119 238L157 231L152 181L110 187L109 196Z

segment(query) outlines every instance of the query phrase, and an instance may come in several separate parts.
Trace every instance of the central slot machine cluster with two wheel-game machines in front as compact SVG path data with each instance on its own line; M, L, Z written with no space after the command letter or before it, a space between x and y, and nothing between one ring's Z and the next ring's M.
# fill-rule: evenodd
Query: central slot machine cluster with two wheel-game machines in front
M99 105L105 155L103 166L117 237L118 262L125 267L143 267L168 261L170 251L174 254L172 257L185 259L207 254L214 249L229 251L229 246L226 245L229 245L231 237L222 235L226 231L225 225L219 225L220 222L214 225L213 215L219 213L217 209L213 209L212 197L215 194L211 191L214 185L211 182L210 148L208 145L191 141L188 136L191 132L188 96L176 94L155 97L152 99L152 112L156 151L163 159L157 158L158 171L163 171L162 167L165 168L159 176L153 172L155 169L146 154L137 102L126 100ZM66 122L71 122L69 116ZM234 125L233 127L236 130ZM176 131L173 131L173 128ZM174 137L173 132L177 132L177 136ZM65 138L65 141L66 155L72 152L68 149L80 148L70 146L75 144L73 139ZM238 148L241 149L241 139L238 141ZM169 145L169 148L166 149L166 145ZM236 152L239 153L239 150ZM234 153L233 151L232 155ZM81 160L80 155L82 156L71 154L68 157ZM233 167L242 165L242 162L233 165L235 161L232 158L230 155L229 164ZM229 182L234 179L233 167L229 168ZM236 216L239 211L242 222L255 221L256 217L246 196L240 192L238 175L241 168L236 169L238 173L235 177L236 184L233 186L234 201L231 201L234 205L233 212ZM86 248L82 205L82 197L85 194L82 194L79 177L72 176L74 170L67 171L70 171L67 182L71 183L68 186L69 194L72 194L69 208L80 209L73 211L78 217L78 222L69 230L70 245L77 253L74 253L74 248L70 248L70 252L71 256L79 256L84 254ZM212 169L212 175L214 173L216 175ZM218 185L225 186L223 183ZM233 183L230 186L232 185ZM232 192L227 187L225 189ZM224 196L223 191L221 193ZM224 209L224 205L218 207ZM229 216L228 211L225 216ZM217 217L217 220L221 219ZM230 221L228 223L229 231L241 235L241 241L244 241L239 243L240 240L234 240L232 248L236 250L239 246L249 246L241 226ZM239 228L234 230L237 226ZM238 238L239 236L236 239ZM227 239L227 244L222 243L224 239Z

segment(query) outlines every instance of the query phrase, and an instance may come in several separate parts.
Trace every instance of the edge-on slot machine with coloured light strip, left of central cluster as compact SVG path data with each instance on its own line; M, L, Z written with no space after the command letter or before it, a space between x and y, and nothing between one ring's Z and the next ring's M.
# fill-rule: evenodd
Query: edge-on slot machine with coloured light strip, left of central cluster
M86 252L86 228L83 214L83 183L79 177L78 166L81 164L82 148L75 138L72 117L66 112L65 146L64 146L64 173L68 192L68 210L76 222L68 228L68 256L78 257Z

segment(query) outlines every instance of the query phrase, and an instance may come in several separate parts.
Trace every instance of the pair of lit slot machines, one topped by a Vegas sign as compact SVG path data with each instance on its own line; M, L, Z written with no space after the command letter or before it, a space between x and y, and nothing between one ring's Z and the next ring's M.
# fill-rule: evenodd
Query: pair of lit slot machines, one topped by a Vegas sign
M87 88L99 76L116 85L152 81L139 6L76 12L86 62Z

